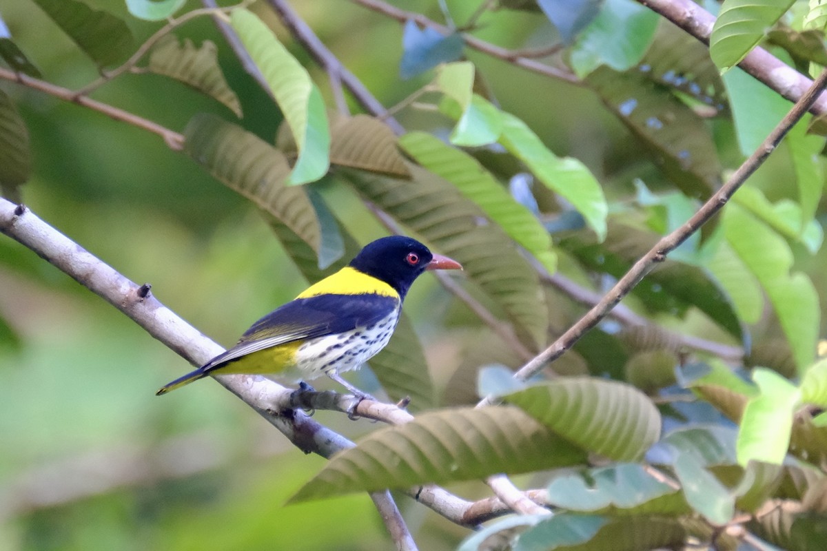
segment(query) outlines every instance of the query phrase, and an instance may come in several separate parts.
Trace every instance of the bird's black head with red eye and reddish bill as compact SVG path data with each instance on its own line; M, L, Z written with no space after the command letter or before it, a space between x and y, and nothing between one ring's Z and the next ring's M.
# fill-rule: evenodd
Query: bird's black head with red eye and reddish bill
M388 283L404 298L411 284L426 269L459 269L452 259L434 255L428 247L403 235L375 240L351 260L351 268Z

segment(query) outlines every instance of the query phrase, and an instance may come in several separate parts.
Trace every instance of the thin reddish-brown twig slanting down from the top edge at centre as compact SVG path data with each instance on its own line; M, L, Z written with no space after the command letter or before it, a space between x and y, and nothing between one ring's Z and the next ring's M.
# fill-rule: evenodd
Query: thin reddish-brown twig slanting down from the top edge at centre
M270 2L272 1L273 0L270 0ZM455 32L450 27L440 25L436 21L432 21L431 19L428 19L428 17L423 16L421 13L406 12L399 9L399 7L391 6L389 3L382 2L381 0L352 0L352 2L373 10L374 12L381 13L382 15L390 17L400 23L404 23L405 21L415 21L419 26L432 28L445 36ZM558 78L566 81L567 83L577 84L578 86L583 85L581 79L577 78L576 74L571 73L571 71L567 69L559 69L557 67L552 67L551 65L539 63L534 59L529 59L519 55L519 52L502 48L498 45L486 42L485 40L480 40L479 38L476 38L476 36L471 36L467 33L462 33L461 36L462 40L465 40L466 45L486 55L490 55L498 59L504 59L511 64L522 67L523 69L528 69L534 73L544 74L547 77Z

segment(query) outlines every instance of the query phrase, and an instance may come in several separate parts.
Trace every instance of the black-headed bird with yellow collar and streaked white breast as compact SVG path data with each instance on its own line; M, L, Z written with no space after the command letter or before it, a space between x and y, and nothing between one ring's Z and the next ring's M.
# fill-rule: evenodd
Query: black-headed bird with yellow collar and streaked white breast
M385 348L414 280L435 269L462 266L403 235L372 241L346 267L256 321L231 349L155 394L211 375L271 373L302 382L327 375L357 397L370 397L339 373Z

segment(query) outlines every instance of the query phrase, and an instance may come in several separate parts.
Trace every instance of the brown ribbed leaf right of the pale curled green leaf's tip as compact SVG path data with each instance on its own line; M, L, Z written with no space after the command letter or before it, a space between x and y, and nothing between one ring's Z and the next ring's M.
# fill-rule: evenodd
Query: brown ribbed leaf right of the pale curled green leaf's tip
M330 162L352 169L409 178L396 136L388 125L367 115L334 114L330 122Z

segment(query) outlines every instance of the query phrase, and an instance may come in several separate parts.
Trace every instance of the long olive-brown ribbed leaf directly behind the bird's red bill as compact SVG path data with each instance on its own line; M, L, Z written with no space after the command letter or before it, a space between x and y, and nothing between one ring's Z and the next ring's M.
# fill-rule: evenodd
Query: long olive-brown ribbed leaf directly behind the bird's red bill
M363 197L460 262L466 276L514 321L523 340L540 347L548 312L537 273L503 230L480 222L485 220L480 208L450 183L409 169L414 183L353 171L347 178Z

